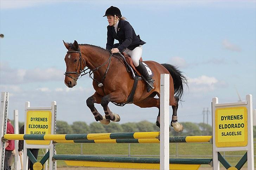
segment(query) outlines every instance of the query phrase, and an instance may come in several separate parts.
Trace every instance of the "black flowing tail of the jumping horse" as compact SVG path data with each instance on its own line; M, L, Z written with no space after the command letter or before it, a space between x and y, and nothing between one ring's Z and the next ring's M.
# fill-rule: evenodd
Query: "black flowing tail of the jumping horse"
M171 64L161 64L164 66L172 76L173 86L174 86L174 94L181 98L183 95L183 84L187 85L187 78L182 74L178 67L175 67Z

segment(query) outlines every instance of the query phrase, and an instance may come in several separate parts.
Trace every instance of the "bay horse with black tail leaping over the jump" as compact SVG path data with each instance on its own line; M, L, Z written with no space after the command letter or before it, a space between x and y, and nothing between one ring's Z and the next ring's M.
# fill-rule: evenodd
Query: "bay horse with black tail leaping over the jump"
M64 41L63 41L64 42ZM127 72L123 61L114 57L108 50L88 44L64 42L68 52L65 56L66 72L65 84L69 88L76 86L77 80L84 74L93 73L92 86L95 93L86 100L86 104L94 115L96 121L103 124L120 121L118 114L112 113L108 107L109 102L116 104L125 103L133 88L134 79ZM178 123L177 109L179 98L183 94L183 85L187 79L182 73L171 64L159 64L155 61L144 61L153 71L154 89L149 93L146 90L145 81L139 80L133 96L133 104L141 108L157 107L159 109L156 118L156 125L160 128L160 74L170 74L169 105L172 106L173 114L171 126L175 131L182 131L183 125ZM85 67L90 69L85 73ZM174 96L176 94L177 96ZM94 107L94 103L101 104L105 115L102 116Z

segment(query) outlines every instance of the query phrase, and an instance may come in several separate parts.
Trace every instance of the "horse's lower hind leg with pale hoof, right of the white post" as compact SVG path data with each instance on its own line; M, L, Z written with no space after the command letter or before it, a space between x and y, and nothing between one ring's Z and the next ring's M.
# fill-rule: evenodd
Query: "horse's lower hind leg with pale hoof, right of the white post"
M174 96L174 99L175 99L175 104L172 104L171 126L174 128L175 131L180 132L180 131L183 131L183 125L178 122L178 117L177 117L179 97Z

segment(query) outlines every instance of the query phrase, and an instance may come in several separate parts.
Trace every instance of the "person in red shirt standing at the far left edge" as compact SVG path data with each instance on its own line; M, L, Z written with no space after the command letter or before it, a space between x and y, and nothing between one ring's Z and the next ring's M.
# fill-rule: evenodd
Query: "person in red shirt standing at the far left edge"
M11 120L7 119L6 134L14 134L14 128L11 124ZM11 162L15 155L14 140L8 140L5 143L5 163L4 170L11 170Z

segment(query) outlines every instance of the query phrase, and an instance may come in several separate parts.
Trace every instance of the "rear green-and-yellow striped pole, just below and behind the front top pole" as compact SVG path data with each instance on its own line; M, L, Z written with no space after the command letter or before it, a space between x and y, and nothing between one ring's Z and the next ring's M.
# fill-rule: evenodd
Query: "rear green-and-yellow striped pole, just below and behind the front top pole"
M212 136L181 136L169 137L169 143L211 142ZM54 141L55 143L160 143L158 139L109 139L109 140L69 140Z

